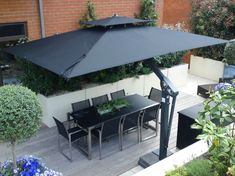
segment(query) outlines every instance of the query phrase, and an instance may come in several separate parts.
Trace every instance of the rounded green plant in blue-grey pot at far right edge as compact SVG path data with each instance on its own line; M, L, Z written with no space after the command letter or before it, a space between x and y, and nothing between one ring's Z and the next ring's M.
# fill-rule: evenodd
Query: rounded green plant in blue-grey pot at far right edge
M230 42L224 49L224 78L235 76L235 42Z

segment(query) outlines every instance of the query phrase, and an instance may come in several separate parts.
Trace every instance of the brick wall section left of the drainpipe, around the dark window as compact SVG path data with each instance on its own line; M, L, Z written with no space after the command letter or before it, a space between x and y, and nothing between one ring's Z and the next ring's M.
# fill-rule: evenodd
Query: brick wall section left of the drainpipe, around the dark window
M29 38L39 38L37 0L0 0L0 23L11 22L27 22Z

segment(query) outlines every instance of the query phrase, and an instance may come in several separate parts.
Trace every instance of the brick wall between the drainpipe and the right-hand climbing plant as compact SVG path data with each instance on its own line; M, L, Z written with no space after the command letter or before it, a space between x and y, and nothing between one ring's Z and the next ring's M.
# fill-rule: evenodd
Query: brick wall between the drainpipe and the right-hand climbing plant
M98 18L118 14L133 16L139 10L139 0L93 0ZM75 30L86 11L87 0L44 0L46 35Z

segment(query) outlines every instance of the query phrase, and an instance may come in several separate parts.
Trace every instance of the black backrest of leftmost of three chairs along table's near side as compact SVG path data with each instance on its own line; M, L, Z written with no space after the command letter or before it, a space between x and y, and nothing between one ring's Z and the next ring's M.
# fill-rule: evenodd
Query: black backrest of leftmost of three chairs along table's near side
M102 137L107 138L118 134L120 124L121 124L121 118L116 118L105 122L102 126Z

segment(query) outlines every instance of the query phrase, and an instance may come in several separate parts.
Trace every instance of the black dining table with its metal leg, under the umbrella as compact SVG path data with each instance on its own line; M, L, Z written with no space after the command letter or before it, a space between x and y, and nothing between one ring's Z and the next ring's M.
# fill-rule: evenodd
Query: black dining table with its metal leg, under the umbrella
M116 118L122 118L129 114L144 111L147 108L151 108L160 105L159 102L148 99L138 94L127 95L122 99L128 102L128 106L119 110L100 115L97 112L97 107L91 106L89 108L75 111L70 113L70 116L76 121L77 125L87 131L87 155L88 159L92 159L92 130L102 126L103 123L108 122Z

